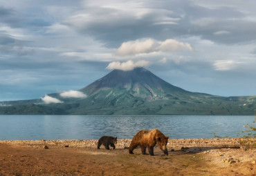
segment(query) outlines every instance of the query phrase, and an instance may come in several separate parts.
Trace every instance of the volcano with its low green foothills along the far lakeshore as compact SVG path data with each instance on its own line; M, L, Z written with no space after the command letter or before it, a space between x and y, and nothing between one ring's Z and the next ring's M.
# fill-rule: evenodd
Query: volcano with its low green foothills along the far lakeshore
M0 102L0 114L16 115L253 115L256 96L220 97L189 92L145 68L113 70L80 90L86 97L48 95L43 99Z

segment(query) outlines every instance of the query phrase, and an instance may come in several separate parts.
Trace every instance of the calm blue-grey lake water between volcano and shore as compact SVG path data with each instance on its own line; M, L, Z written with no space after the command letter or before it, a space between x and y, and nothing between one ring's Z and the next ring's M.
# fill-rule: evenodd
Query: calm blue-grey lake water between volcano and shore
M139 130L158 128L171 139L237 137L254 116L93 116L0 115L0 140L132 139Z

